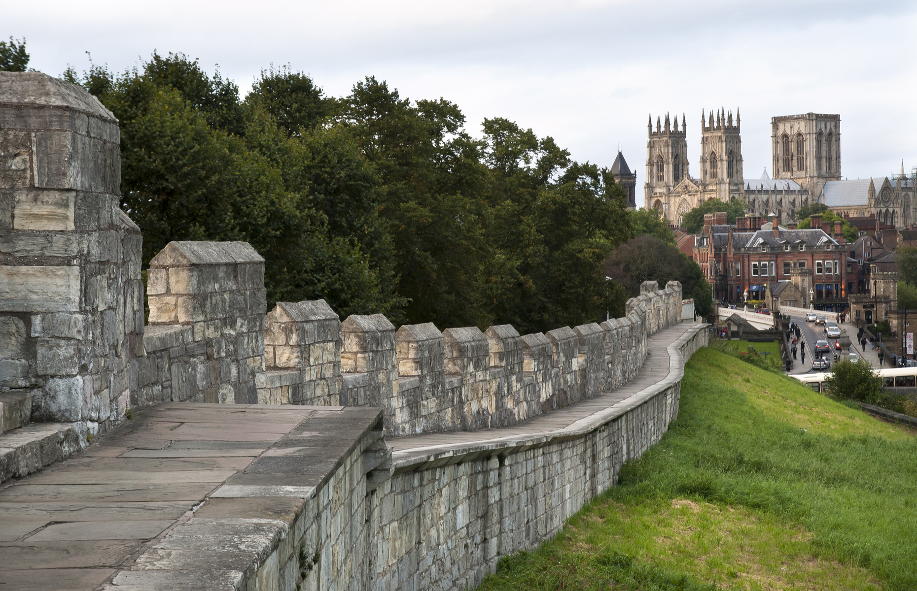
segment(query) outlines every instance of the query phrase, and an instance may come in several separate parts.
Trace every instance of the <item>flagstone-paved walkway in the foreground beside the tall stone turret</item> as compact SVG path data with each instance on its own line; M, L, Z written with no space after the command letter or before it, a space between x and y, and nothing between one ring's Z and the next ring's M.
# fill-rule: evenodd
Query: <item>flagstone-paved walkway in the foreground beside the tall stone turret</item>
M101 442L0 488L0 581L236 589L291 534L306 499L361 443L381 438L381 427L381 409L342 406L138 410ZM0 441L73 429L30 425Z

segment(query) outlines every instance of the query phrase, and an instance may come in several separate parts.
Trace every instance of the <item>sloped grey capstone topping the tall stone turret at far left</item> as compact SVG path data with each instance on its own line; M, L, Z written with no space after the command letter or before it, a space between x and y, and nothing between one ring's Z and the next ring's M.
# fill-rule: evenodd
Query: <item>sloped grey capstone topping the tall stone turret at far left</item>
M40 71L0 71L0 105L59 107L117 123L92 94Z

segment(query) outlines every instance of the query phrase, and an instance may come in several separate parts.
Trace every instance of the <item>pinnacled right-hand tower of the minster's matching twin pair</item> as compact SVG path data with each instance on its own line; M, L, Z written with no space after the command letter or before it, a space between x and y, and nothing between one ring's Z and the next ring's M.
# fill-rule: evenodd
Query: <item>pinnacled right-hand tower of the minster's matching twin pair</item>
M704 121L701 113L701 186L703 201L728 202L742 199L745 183L742 176L742 138L739 112L724 109L710 113Z

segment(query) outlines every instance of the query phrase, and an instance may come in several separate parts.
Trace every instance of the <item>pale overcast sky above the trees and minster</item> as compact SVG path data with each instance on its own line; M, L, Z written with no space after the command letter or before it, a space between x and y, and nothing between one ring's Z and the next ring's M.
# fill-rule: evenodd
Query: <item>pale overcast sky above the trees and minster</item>
M701 110L739 108L746 178L770 170L770 117L841 115L845 177L917 166L917 2L63 2L0 0L0 37L31 67L123 71L160 53L199 58L246 93L290 64L326 93L375 75L412 99L457 103L468 129L503 116L574 159L624 157L646 177L646 119L684 113L691 174ZM638 200L639 202L639 200Z

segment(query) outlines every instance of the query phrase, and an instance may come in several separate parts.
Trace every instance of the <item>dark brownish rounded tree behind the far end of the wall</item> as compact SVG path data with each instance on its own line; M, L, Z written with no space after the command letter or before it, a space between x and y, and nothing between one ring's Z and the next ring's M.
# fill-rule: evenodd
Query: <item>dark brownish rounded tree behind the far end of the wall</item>
M627 297L639 295L644 281L658 281L660 288L668 281L680 281L683 297L694 299L698 315L713 312L713 289L701 268L678 248L655 236L637 236L617 247L603 267L608 277L624 287Z

